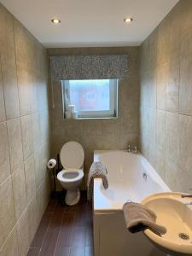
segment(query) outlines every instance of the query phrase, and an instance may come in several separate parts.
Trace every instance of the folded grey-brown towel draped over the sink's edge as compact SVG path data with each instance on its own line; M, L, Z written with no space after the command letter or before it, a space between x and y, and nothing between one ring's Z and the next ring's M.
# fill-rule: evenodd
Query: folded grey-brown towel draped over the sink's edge
M141 204L126 202L123 206L126 228L131 233L149 229L158 236L166 234L166 228L156 224L156 214Z

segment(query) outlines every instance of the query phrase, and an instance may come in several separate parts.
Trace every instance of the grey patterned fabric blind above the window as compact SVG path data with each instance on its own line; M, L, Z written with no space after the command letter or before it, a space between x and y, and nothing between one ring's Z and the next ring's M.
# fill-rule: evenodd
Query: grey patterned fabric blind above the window
M127 78L127 55L56 55L49 58L52 81Z

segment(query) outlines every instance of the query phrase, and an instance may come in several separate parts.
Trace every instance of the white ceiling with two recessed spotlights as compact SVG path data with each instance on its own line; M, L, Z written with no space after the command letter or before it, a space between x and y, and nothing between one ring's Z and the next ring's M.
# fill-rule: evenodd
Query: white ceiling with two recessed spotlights
M46 47L139 45L177 0L0 0ZM131 16L133 22L123 20ZM61 19L55 26L52 18Z

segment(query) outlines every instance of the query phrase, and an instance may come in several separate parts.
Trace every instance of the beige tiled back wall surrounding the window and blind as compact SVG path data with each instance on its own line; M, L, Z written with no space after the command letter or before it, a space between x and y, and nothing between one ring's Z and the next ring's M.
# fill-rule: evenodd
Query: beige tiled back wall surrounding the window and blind
M60 152L64 143L74 140L85 152L85 179L95 149L127 148L137 144L139 134L139 78L138 48L73 48L48 49L49 55L128 55L128 79L119 81L119 119L63 119L61 85L54 85L55 108L52 109L52 156ZM51 99L52 102L52 99ZM83 186L85 189L85 184Z

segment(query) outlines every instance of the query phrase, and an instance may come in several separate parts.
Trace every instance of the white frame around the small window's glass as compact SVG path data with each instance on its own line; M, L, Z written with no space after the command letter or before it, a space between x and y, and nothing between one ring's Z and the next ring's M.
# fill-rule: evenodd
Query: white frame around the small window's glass
M71 79L72 80L72 79ZM81 79L83 80L83 79ZM88 80L88 79L84 79ZM93 80L93 79L91 79ZM99 80L99 79L96 79ZM118 118L118 91L119 91L119 79L108 79L110 88L110 109L102 111L79 111L79 119L115 119ZM63 103L63 117L65 119L65 111L67 111L67 94L66 90L69 90L69 81L61 81L61 91L62 91L62 103ZM70 98L70 96L69 96ZM68 99L68 102L70 99Z

